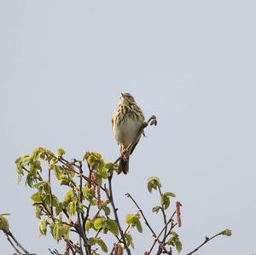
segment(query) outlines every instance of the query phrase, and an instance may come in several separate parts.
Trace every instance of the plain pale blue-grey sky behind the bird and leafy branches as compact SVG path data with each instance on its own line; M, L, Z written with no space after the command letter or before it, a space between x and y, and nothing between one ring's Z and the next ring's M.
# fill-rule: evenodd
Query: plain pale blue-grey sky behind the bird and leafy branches
M44 146L85 150L107 161L119 155L111 118L120 92L130 92L148 118L130 172L114 180L121 218L149 221L159 200L147 178L183 204L183 254L220 230L199 254L256 252L255 1L1 1L0 212L30 252L49 254L38 237L32 191L17 184L14 161ZM172 203L172 210L174 204ZM169 212L170 215L172 211ZM134 231L136 232L136 231ZM151 246L135 234L134 254ZM0 253L13 250L0 235Z

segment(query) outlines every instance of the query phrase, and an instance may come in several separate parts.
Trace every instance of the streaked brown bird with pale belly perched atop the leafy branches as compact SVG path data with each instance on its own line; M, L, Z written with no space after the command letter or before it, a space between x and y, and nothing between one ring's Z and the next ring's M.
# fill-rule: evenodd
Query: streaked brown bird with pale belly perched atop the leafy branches
M143 111L137 106L133 96L129 93L121 93L119 105L112 118L113 136L120 146L121 153L118 173L124 172L127 174L129 171L129 156L140 139L140 136L137 138L137 135L143 126L143 122ZM129 147L131 143L132 145Z

